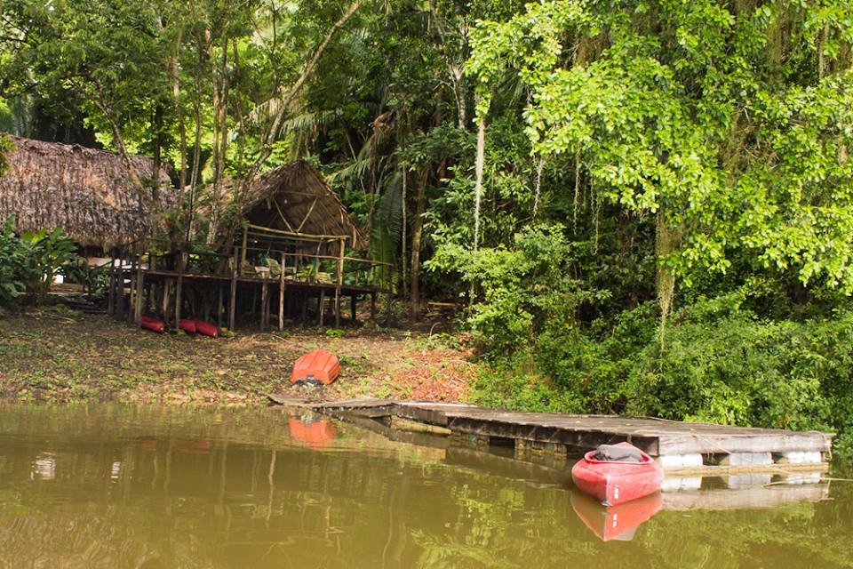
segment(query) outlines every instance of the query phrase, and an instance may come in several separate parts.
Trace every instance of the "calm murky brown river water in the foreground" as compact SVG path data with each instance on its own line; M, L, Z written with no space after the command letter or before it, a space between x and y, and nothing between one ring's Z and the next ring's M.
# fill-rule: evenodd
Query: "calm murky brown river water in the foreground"
M670 480L608 511L560 469L376 430L0 405L0 567L853 567L853 483Z

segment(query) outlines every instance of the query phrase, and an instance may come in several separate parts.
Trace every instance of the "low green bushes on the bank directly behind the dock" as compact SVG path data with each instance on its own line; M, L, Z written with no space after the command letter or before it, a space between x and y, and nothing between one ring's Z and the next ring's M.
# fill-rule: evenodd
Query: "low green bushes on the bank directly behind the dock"
M624 413L839 434L853 453L853 309L764 320L737 298L677 312L658 338L654 303L608 322L554 322L490 365L478 403L569 413Z

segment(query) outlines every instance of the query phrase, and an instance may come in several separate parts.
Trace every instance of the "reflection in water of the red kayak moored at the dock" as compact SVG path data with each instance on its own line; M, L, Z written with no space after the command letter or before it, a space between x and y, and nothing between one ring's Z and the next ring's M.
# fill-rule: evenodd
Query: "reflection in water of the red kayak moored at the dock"
M656 492L618 506L605 507L581 493L571 493L571 507L602 541L628 541L634 530L660 510L663 499Z

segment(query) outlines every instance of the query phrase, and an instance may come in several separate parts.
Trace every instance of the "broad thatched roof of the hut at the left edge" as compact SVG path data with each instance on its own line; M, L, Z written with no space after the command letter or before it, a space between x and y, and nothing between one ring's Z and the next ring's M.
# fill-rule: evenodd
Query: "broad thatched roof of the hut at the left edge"
M133 184L121 156L77 145L11 137L16 149L10 170L0 176L0 220L15 213L17 231L61 227L84 247L111 246L151 236L149 200ZM132 156L142 180L151 180L153 161ZM174 205L169 175L158 175L160 204ZM148 202L148 203L147 203Z

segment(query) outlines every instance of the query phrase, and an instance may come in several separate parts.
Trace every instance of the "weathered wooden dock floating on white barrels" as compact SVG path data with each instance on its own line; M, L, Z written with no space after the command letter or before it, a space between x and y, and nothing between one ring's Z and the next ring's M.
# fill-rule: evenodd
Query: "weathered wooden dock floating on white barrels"
M307 405L320 413L434 426L475 446L513 446L530 454L568 457L602 444L627 441L667 473L719 475L737 472L825 470L831 433L728 427L650 418L562 413L518 413L472 405L355 399Z

